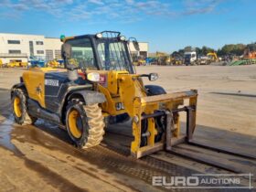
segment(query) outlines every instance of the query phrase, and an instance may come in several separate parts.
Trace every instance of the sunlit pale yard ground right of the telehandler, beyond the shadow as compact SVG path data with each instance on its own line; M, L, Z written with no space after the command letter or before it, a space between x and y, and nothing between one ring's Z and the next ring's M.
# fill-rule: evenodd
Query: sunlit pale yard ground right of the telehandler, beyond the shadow
M198 91L197 124L256 135L256 66L140 67L167 92Z

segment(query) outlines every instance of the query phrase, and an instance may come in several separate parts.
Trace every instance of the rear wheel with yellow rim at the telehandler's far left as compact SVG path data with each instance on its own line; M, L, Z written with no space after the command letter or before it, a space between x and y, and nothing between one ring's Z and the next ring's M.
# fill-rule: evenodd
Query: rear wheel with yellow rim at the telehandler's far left
M27 94L21 89L12 91L12 109L15 122L21 125L34 124L37 118L27 112Z

